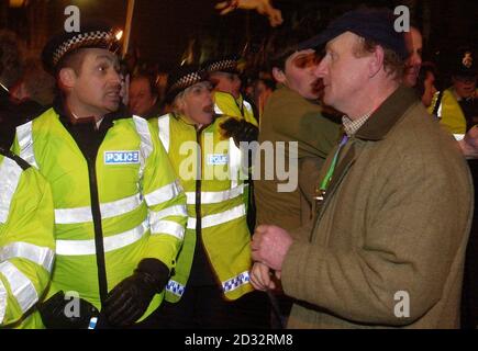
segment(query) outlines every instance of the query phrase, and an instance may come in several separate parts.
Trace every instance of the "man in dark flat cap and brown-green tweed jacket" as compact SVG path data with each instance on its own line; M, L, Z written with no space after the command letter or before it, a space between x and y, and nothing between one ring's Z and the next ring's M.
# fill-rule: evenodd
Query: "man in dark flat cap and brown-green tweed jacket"
M456 328L473 210L463 156L400 86L408 53L390 12L347 12L303 47L324 43L315 73L345 135L312 228L258 227L253 259L297 299L289 328ZM274 287L256 273L255 287Z

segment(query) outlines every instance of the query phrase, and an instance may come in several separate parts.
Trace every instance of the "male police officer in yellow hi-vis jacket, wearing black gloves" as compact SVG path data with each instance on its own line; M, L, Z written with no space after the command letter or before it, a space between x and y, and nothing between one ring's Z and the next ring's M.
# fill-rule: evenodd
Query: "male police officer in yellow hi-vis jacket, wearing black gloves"
M56 263L40 310L47 328L148 326L182 244L186 197L148 123L119 110L110 27L81 24L45 46L60 97L16 128L13 146L53 193Z

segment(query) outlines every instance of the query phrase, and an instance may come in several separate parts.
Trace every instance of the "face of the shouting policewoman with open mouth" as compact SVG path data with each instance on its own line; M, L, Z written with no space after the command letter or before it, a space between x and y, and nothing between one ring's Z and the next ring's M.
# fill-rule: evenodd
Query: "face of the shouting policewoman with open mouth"
M210 83L199 82L185 89L176 97L175 105L181 114L196 124L208 125L212 123L214 103Z

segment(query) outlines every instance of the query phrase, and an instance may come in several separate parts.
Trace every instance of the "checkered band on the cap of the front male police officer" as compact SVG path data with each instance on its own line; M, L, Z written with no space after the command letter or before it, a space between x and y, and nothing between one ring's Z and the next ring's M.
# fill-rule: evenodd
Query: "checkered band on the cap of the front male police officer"
M54 52L52 57L53 66L56 66L58 61L67 53L73 52L80 47L101 47L109 49L114 42L114 36L111 32L93 31L86 33L78 33L74 37L64 42Z

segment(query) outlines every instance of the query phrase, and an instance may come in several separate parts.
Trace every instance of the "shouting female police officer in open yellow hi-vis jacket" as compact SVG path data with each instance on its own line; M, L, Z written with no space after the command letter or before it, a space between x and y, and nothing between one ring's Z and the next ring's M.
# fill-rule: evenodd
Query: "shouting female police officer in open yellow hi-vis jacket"
M170 303L159 317L165 328L247 326L237 324L236 308L237 299L253 291L245 177L236 144L253 139L254 131L231 128L236 120L214 115L210 89L196 67L178 68L167 97L174 112L152 120L188 204L185 244L166 287Z

